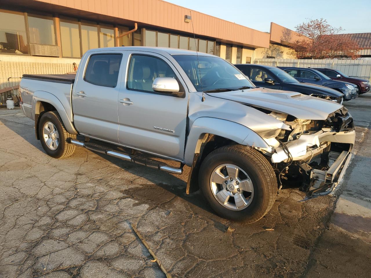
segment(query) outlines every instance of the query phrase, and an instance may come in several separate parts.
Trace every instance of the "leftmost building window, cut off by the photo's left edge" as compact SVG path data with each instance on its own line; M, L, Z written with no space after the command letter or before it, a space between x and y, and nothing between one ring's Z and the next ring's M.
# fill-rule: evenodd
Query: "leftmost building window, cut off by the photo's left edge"
M0 53L28 54L23 13L0 12Z

